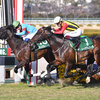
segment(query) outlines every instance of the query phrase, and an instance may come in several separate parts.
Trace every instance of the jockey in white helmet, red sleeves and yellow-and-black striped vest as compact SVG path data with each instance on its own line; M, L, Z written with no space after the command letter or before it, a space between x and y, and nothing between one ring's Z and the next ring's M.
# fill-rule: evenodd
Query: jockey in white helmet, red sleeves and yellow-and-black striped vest
M57 24L58 29L54 30L54 34L63 34L66 39L72 40L75 45L79 43L79 37L82 34L80 27L70 21L63 21L60 16L54 18L54 24Z

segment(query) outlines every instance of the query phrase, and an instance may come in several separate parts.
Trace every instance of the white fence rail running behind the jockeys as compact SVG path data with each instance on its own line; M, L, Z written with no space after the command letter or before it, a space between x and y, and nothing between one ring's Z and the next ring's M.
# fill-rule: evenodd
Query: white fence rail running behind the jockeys
M80 18L80 19L77 19L77 18L74 18L74 19L67 19L67 18L64 18L63 20L69 20L69 21L73 21L73 22L76 22L77 24L100 24L100 18L89 18L89 19L86 19L86 18ZM24 19L24 23L28 23L28 24L53 24L53 18L48 18L48 19L45 19L45 18L34 18L34 19Z

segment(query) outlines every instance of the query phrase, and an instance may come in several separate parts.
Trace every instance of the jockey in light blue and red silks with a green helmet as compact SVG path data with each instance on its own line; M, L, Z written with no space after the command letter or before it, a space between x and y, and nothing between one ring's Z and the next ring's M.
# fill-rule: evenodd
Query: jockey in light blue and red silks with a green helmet
M21 36L26 42L32 39L32 37L37 32L37 29L34 26L28 24L20 24L19 21L14 21L13 26L15 29L18 29L20 31L20 33L16 33L16 35Z

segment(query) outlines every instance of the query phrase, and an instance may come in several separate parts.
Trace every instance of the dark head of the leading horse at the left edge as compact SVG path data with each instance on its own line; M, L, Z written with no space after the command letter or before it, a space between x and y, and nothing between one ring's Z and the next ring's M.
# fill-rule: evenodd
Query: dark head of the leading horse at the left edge
M13 25L3 26L0 28L0 39L7 39L14 35L15 29Z

